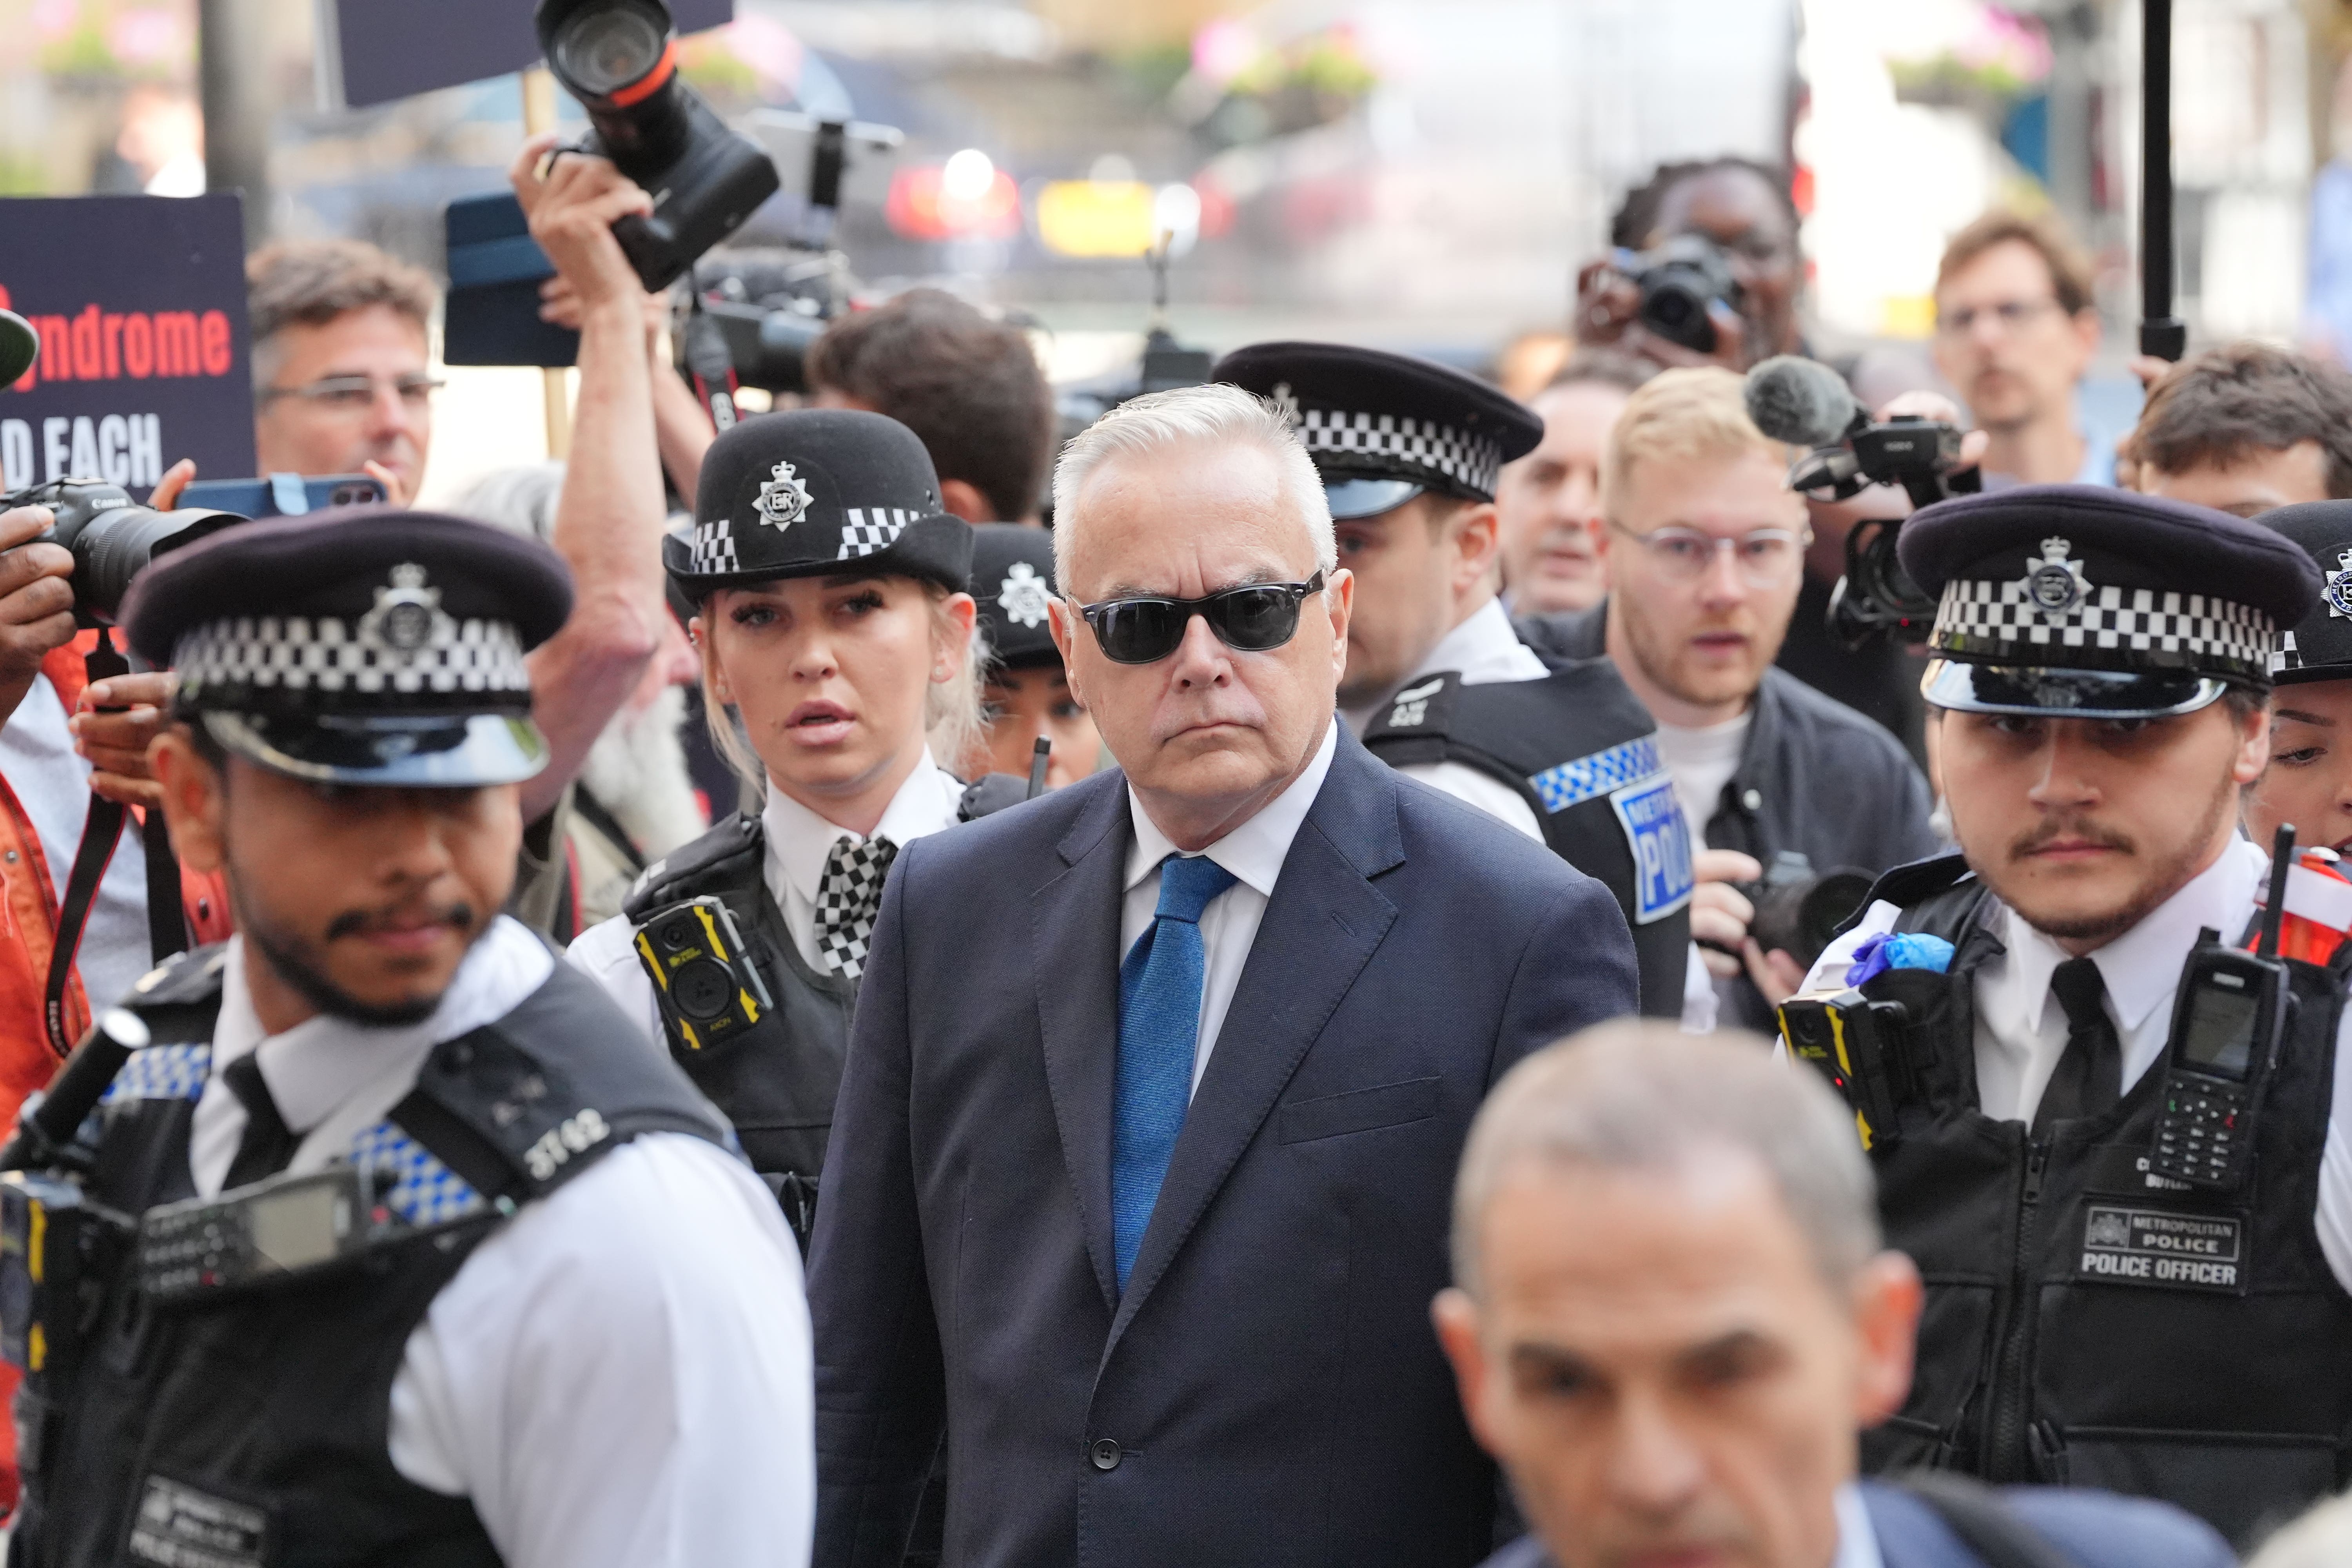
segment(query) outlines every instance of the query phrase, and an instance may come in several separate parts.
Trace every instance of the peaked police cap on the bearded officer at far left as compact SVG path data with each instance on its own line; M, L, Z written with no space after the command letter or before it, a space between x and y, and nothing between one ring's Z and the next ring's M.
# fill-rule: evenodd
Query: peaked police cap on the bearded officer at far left
M132 649L174 712L289 778L477 788L548 764L522 656L572 614L536 538L381 505L223 529L139 574Z

